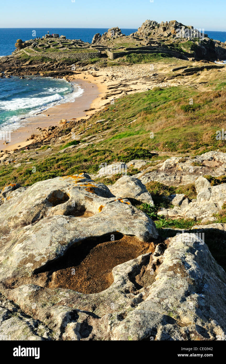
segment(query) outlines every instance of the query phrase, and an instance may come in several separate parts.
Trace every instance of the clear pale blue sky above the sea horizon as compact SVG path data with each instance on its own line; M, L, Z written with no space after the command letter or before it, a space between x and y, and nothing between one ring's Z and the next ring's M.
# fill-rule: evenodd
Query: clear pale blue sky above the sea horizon
M226 0L0 0L1 28L138 28L146 20L177 20L226 31Z

